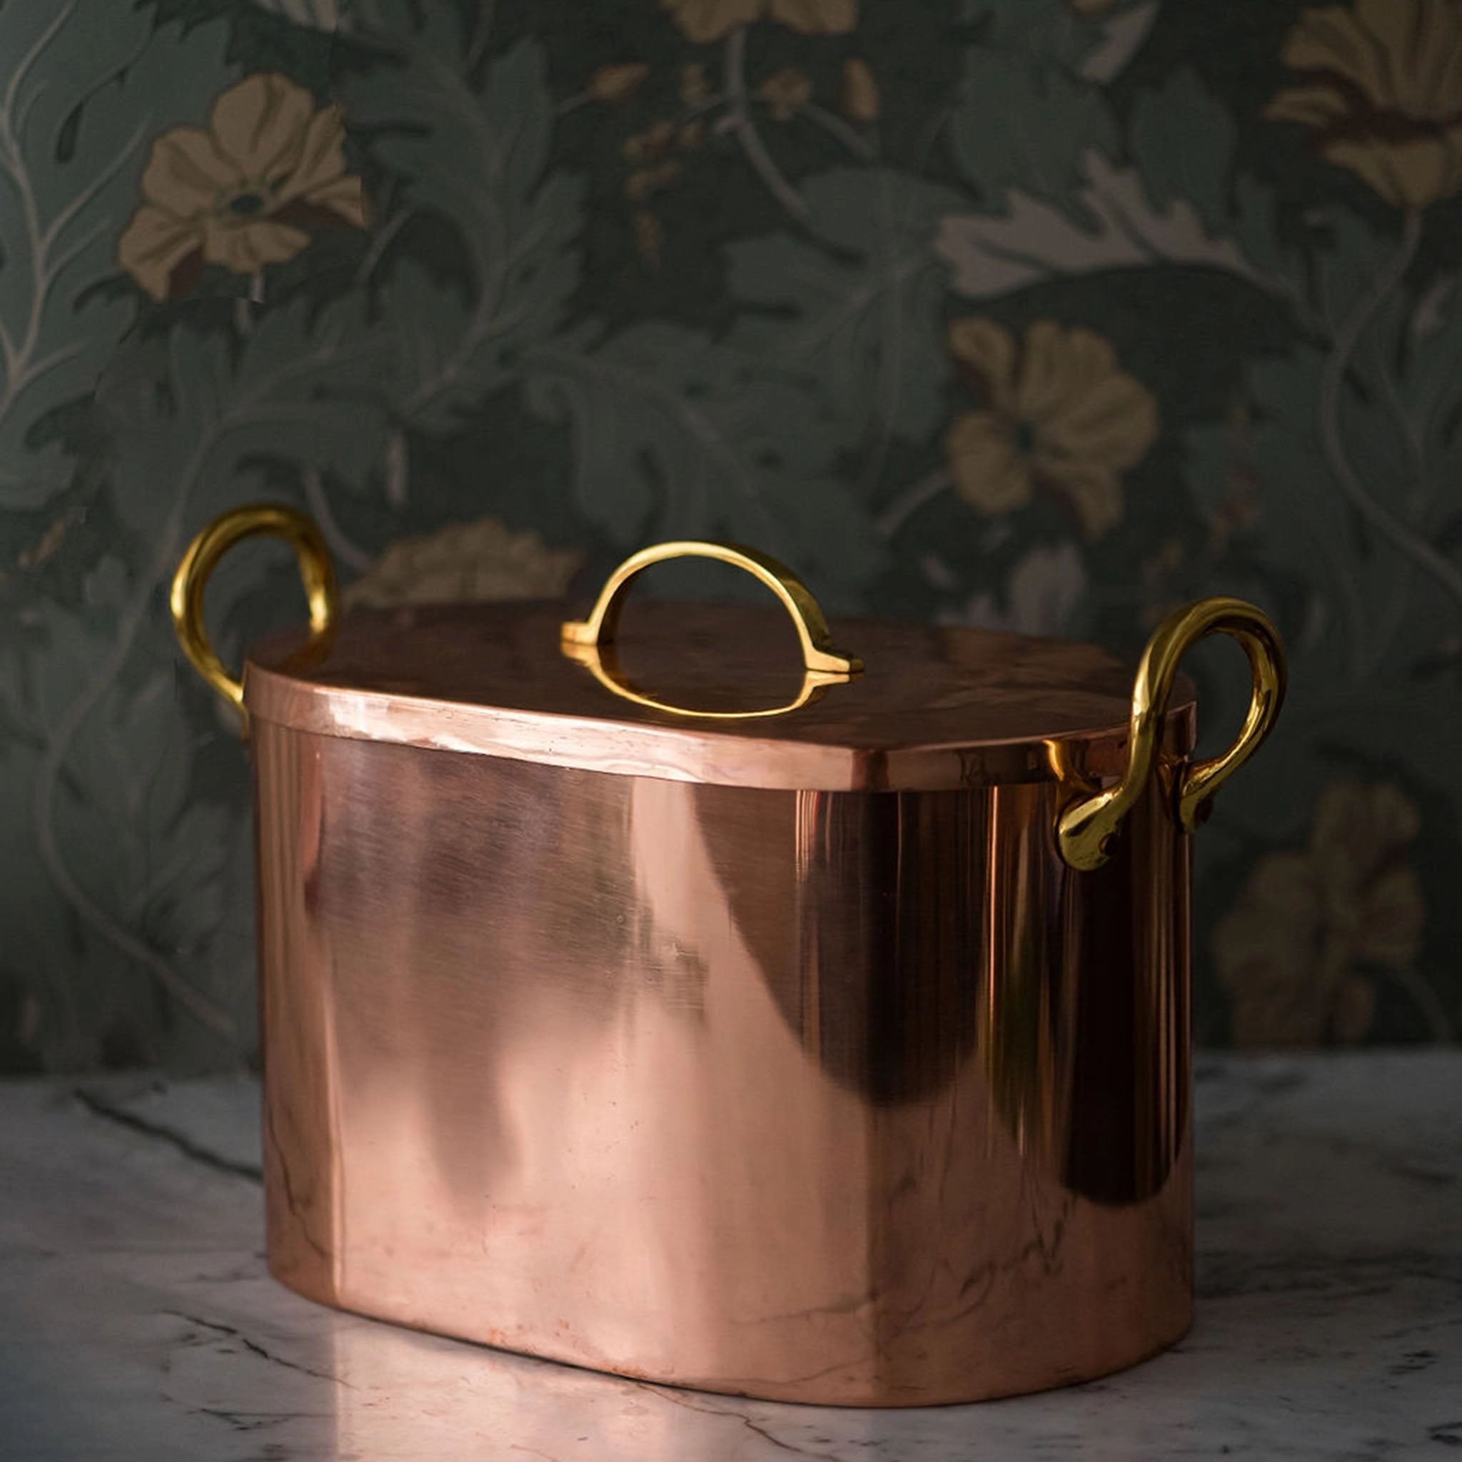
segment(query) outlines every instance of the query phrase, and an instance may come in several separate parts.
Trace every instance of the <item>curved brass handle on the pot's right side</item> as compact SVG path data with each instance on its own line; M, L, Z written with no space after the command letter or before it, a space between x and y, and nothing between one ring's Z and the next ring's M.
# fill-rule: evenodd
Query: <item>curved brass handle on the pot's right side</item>
M1073 803L1057 820L1061 857L1073 868L1099 868L1113 835L1143 794L1158 743L1178 661L1205 635L1231 635L1244 648L1253 675L1253 696L1238 740L1222 754L1184 766L1173 788L1173 813L1184 832L1206 817L1213 794L1259 750L1284 702L1285 659L1279 632L1268 616L1243 599L1200 599L1174 610L1154 630L1137 664L1132 689L1132 730L1127 735L1127 770L1116 787Z

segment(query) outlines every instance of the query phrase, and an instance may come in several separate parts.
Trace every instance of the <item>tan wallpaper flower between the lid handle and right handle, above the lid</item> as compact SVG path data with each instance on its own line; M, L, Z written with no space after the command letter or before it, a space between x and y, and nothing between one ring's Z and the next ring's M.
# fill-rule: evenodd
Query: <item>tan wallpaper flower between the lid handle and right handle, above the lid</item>
M944 439L959 494L994 516L1054 493L1091 538L1120 522L1121 474L1152 446L1158 408L1111 344L1051 320L1018 342L972 317L955 322L949 348L982 401Z

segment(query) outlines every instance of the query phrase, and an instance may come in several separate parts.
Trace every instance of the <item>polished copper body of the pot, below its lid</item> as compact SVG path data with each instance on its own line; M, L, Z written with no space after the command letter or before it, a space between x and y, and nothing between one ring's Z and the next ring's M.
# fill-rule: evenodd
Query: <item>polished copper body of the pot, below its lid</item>
M287 1284L857 1405L1187 1327L1187 852L1156 797L1073 873L1048 772L696 785L251 708Z

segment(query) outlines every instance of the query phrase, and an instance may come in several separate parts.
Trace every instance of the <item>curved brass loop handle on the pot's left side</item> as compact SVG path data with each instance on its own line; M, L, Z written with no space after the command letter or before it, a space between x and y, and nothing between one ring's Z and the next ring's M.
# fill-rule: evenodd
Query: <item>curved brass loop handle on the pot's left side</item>
M234 544L260 535L285 539L300 560L300 577L310 601L311 640L326 640L339 617L339 591L335 585L330 551L320 529L298 509L285 503L246 503L243 507L221 513L187 545L187 553L173 575L173 627L177 630L183 654L213 690L238 711L246 732L249 718L244 712L244 686L224 670L208 637L208 626L203 623L203 591L218 560Z

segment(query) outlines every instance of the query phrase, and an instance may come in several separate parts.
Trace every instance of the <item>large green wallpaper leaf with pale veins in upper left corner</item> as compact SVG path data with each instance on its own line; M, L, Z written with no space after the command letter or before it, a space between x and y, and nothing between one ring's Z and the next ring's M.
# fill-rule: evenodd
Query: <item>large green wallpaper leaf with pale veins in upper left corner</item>
M102 291L148 137L205 102L228 32L152 31L108 0L0 7L0 509L64 491L48 417L89 392L133 320Z

